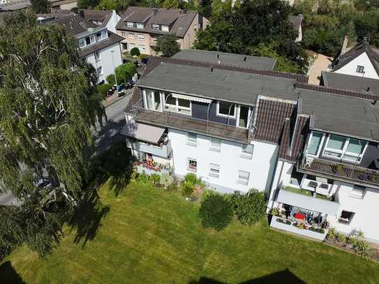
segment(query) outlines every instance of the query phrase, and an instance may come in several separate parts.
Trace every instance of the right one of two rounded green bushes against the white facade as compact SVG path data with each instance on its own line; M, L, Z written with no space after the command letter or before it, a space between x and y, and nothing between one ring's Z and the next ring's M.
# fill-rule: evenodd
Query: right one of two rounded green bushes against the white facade
M246 195L232 195L233 211L237 219L244 225L259 222L266 214L265 193L250 190Z

